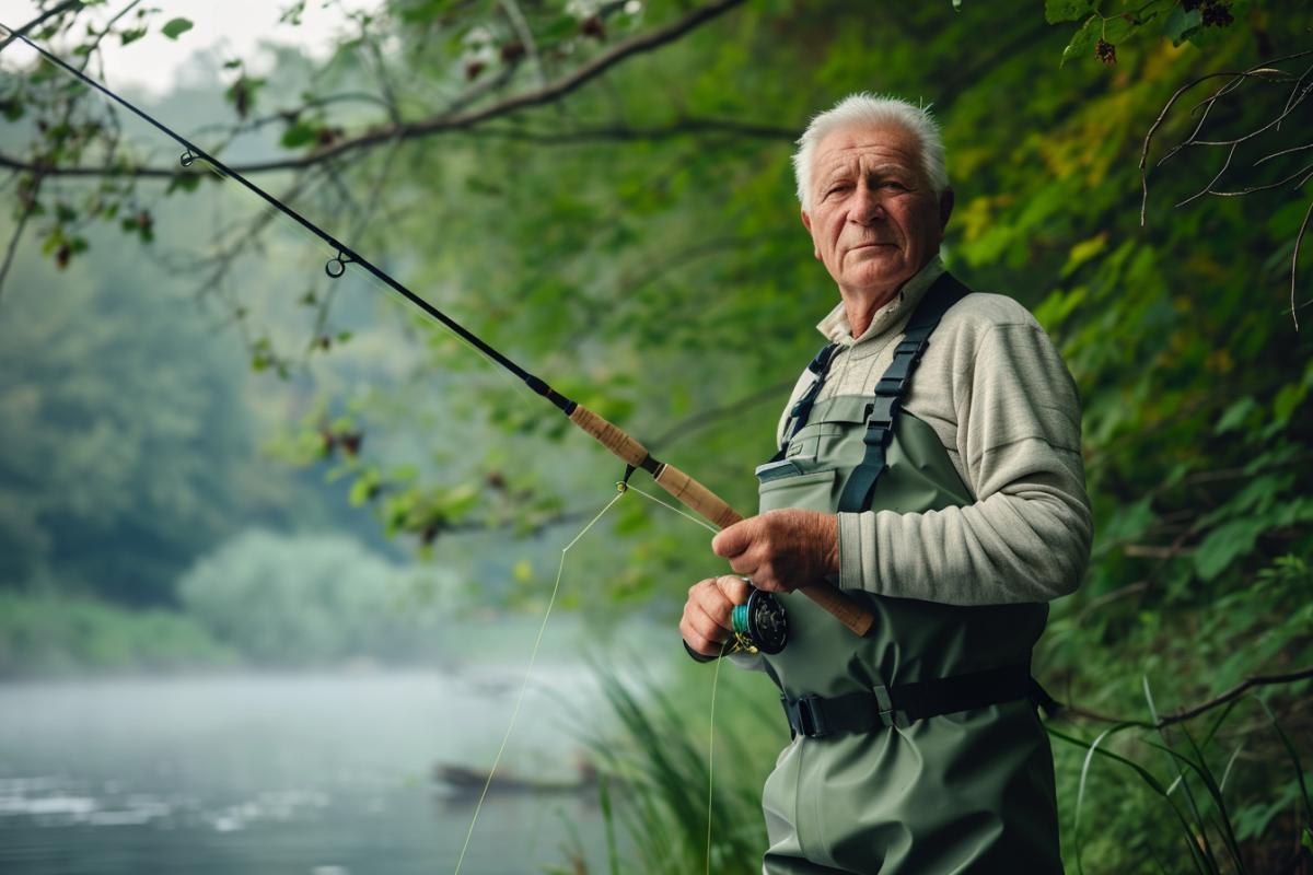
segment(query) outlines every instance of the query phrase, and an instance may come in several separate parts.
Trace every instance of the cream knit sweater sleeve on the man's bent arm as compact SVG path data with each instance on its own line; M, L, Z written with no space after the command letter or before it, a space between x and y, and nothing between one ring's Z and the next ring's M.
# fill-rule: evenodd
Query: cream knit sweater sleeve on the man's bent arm
M1028 315L1028 314L1027 314ZM1073 592L1092 526L1075 384L1048 335L990 325L949 357L960 470L976 501L839 514L839 585L951 605Z

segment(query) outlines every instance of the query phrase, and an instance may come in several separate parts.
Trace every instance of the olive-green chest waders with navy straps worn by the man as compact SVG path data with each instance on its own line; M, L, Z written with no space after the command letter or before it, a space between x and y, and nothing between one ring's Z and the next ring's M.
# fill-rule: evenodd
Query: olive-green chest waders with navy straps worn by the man
M935 282L874 396L817 401L834 348L822 350L785 446L758 468L762 513L974 501L934 429L898 411L939 316L966 293L947 273ZM763 871L1061 872L1053 757L1028 698L1043 695L1029 656L1048 605L850 594L876 613L861 638L781 596L788 645L763 657L794 736L763 790Z

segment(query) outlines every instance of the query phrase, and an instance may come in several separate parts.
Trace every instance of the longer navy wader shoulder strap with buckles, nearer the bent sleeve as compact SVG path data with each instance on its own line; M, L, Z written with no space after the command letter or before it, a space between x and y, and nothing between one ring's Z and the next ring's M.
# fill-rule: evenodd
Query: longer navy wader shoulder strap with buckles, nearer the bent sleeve
M894 361L876 383L876 397L867 408L867 434L861 438L867 451L861 464L848 476L843 495L839 496L840 513L859 513L871 506L871 493L885 471L885 451L893 438L894 420L907 394L911 375L920 363L939 320L949 307L968 294L970 289L944 272L922 298L916 312L907 320L903 338L894 346Z

